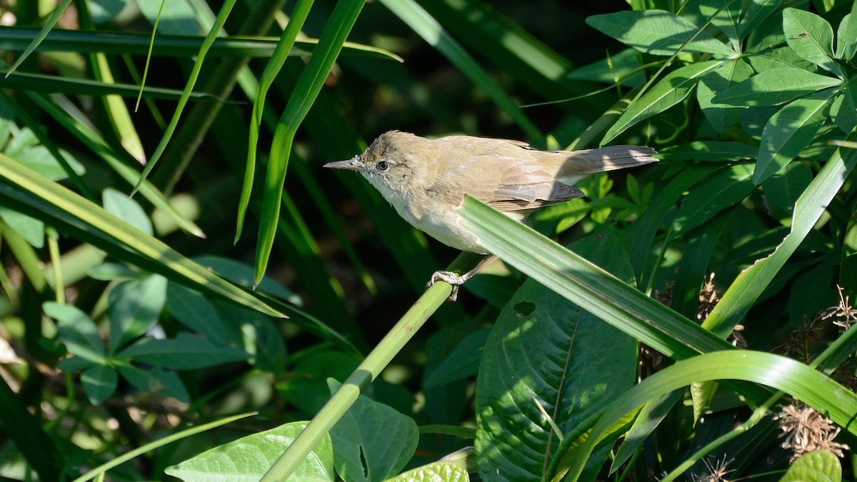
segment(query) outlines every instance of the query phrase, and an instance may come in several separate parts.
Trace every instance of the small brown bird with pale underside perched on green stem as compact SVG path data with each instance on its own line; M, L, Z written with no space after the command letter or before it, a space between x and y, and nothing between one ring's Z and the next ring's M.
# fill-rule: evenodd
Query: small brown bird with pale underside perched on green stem
M487 254L458 215L464 195L520 221L535 208L584 196L574 187L580 179L656 162L652 154L641 146L539 151L505 139L431 140L391 130L363 154L325 167L361 172L411 226L452 248Z

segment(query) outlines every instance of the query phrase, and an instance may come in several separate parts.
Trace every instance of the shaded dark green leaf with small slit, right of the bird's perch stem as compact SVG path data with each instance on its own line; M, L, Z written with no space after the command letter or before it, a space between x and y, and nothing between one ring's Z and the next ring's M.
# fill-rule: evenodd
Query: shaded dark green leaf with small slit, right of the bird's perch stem
M331 395L342 386L327 379ZM385 480L399 473L417 449L417 423L361 395L330 431L333 465L345 480Z

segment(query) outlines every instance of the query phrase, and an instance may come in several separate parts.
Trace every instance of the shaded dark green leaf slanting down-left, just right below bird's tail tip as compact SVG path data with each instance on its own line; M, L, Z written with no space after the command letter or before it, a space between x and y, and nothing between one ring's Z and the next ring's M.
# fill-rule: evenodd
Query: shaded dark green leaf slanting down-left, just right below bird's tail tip
M728 166L693 186L675 215L670 238L679 238L723 209L743 201L754 187L750 164Z

